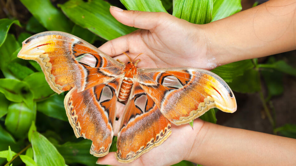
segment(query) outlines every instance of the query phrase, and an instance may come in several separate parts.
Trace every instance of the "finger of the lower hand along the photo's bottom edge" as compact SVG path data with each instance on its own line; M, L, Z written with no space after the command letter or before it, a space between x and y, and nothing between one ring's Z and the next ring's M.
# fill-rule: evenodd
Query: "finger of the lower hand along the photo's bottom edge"
M97 160L97 164L101 165L114 165L114 166L127 166L127 165L141 165L139 160L135 160L131 163L120 163L116 160L115 152L109 152L106 156L99 157Z

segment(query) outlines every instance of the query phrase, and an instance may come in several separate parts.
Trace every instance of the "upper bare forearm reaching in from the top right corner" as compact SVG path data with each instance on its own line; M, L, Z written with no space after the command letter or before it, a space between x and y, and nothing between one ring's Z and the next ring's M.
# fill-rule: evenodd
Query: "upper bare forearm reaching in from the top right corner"
M202 26L220 65L296 49L296 0L270 0Z

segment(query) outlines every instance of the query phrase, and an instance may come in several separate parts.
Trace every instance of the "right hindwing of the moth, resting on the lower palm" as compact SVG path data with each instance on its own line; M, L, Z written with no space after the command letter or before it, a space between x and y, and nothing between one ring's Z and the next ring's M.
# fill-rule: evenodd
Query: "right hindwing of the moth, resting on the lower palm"
M170 134L171 122L134 82L117 137L117 160L121 163L131 162L162 144Z

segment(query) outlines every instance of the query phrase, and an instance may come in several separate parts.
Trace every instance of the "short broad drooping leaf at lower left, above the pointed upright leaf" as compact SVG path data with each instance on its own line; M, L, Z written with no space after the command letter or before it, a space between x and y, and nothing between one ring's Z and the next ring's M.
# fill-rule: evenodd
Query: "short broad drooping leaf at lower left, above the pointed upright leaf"
M32 121L35 121L36 109L30 109L25 103L12 103L8 107L5 126L18 138L28 132Z

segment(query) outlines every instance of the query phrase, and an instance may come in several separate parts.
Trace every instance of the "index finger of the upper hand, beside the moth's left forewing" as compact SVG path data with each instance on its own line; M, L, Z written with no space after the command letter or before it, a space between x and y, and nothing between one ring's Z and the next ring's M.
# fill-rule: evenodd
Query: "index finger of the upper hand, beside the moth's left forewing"
M122 52L129 50L128 48L128 38L131 34L121 36L119 38L107 41L99 47L99 50L106 53L110 57L117 56Z

